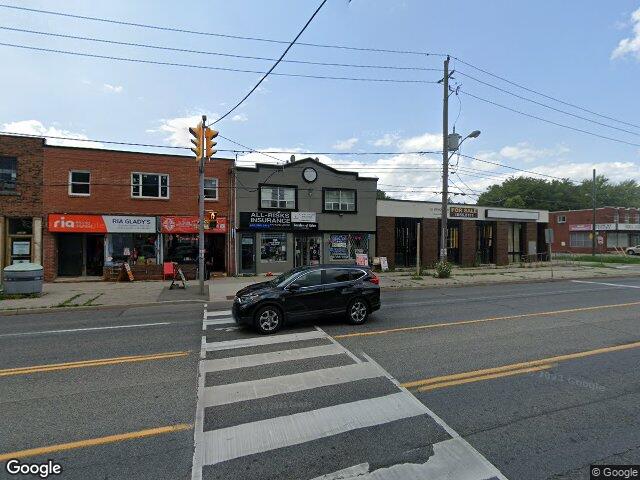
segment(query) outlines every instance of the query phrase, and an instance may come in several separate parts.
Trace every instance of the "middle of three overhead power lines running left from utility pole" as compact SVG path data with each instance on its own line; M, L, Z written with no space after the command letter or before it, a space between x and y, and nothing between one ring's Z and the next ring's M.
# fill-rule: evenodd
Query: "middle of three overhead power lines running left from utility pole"
M238 58L243 60L261 60L261 61L269 61L269 62L277 61L276 58L270 58L270 57L256 57L251 55L212 52L208 50L193 50L189 48L176 48L176 47L168 47L166 45L151 45L147 43L122 42L119 40L110 40L105 38L81 37L76 35L65 35L61 33L42 32L38 30L26 30L23 28L14 28L14 27L6 27L6 26L0 26L0 30L31 33L35 35L43 35L43 36L56 37L56 38L66 38L66 39L72 39L72 40L83 40L88 42L106 43L109 45L123 45L128 47L141 47L141 48L149 48L154 50L166 50L170 52L195 53L200 55L214 55L219 57ZM290 60L283 59L281 60L281 62L295 63L295 64L301 64L301 65L317 65L322 67L349 67L349 68L370 68L370 69L385 69L385 70L414 70L414 71L423 71L423 72L439 72L441 70L440 68L426 68L426 67L418 67L418 66L401 67L401 66L395 66L395 65L367 65L367 64L353 64L353 63L312 62L307 60L294 60L294 59L290 59Z

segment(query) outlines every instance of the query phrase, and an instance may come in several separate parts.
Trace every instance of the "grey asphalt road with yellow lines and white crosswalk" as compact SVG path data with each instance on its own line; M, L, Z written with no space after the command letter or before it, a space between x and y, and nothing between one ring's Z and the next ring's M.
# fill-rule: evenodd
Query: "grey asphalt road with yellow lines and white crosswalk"
M640 279L605 283L389 292L363 326L327 319L317 323L327 335L299 325L265 345L251 331L210 325L204 348L202 308L189 304L0 316L0 459L54 459L64 472L50 478L192 478L194 439L215 445L242 424L250 436L290 417L317 426L296 432L304 438L295 444L285 432L278 448L203 455L202 478L311 479L357 465L382 475L433 464L434 448L459 434L511 480L586 479L591 463L640 463ZM287 355L316 353L274 366L266 359L282 345ZM342 350L317 353L331 348ZM247 355L262 360L238 364ZM255 394L274 376L318 382L315 372L341 367L352 375L342 383L287 386L278 402ZM239 382L254 393L237 397ZM403 386L427 409L413 411ZM412 413L348 410L384 412L381 398ZM340 415L354 429L331 430ZM3 468L0 478L15 477Z

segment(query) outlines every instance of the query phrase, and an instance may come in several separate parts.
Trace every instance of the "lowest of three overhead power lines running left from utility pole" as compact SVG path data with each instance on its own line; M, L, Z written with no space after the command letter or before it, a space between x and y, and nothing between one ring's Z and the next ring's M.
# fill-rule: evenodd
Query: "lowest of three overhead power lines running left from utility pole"
M265 72L260 70L245 70L240 68L228 68L228 67L214 67L211 65L195 65L191 63L177 63L177 62L162 62L159 60L144 60L139 58L129 58L129 57L115 57L110 55L98 55L95 53L82 53L75 52L71 50L60 50L53 48L42 48L42 47L33 47L29 45L19 45L15 43L4 43L0 42L1 46L4 47L13 47L13 48L21 48L25 50L35 50L39 52L47 52L47 53L60 53L64 55L73 55L78 57L89 57L89 58L98 58L101 60L116 60L120 62L129 62L129 63L142 63L149 65L162 65L162 66L170 66L170 67L184 67L184 68L196 68L201 70L217 70L222 72L237 72L237 73L256 73L256 74L265 74ZM280 77L297 77L297 78L314 78L319 80L349 80L349 81L359 81L359 82L379 82L379 83L437 83L428 80L409 80L409 79L395 79L395 78L364 78L364 77L338 77L338 76L329 76L329 75L306 75L302 73L284 73L284 72L272 72L271 75L277 75Z

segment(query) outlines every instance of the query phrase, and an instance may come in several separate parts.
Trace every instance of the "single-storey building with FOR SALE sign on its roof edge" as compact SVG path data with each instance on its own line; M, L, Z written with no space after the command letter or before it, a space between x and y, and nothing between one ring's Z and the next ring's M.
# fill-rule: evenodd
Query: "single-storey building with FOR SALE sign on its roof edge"
M545 252L544 210L449 205L447 254L468 267L507 265ZM418 228L420 263L433 265L440 250L441 205L434 202L378 200L376 255L390 267L416 264ZM419 226L419 227L418 227Z

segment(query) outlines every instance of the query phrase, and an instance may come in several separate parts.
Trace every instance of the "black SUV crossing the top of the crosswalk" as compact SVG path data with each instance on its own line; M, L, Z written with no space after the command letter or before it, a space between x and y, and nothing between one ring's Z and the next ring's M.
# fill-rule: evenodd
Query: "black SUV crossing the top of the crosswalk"
M330 314L343 314L349 323L361 325L380 308L379 282L367 267L298 267L239 290L233 317L264 334L278 331L285 322Z

